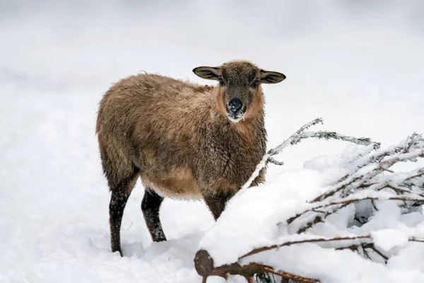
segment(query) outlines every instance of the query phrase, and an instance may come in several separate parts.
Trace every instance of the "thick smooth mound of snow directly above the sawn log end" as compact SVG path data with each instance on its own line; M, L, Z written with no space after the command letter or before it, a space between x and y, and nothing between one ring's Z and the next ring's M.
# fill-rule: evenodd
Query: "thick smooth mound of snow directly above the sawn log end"
M304 185L300 186L298 180L305 180ZM277 224L305 207L304 200L311 196L310 192L319 190L319 183L314 171L290 171L269 180L266 186L240 192L228 202L199 247L207 250L219 266L237 261L252 248L271 246L279 233Z

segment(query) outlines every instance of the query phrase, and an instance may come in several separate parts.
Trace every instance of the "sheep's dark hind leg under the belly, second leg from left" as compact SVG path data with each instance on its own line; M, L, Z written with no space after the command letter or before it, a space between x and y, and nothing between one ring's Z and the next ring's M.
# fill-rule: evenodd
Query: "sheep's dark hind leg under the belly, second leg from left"
M154 190L146 188L143 201L141 202L141 211L143 212L148 231L151 233L152 239L155 242L166 241L159 218L159 209L162 202L163 197L158 195Z

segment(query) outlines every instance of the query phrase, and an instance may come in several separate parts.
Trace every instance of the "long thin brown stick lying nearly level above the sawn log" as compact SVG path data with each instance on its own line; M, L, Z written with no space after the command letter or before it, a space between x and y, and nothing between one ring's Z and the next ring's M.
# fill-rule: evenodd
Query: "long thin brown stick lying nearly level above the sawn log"
M296 244L299 244L299 243L322 243L322 242L352 241L352 240L364 240L364 239L365 240L372 240L372 236L370 234L365 234L365 235L362 235L362 236L353 236L353 237L336 236L334 238L312 238L312 239L308 239L308 240L290 241L290 242L285 242L285 243L281 243L281 244L278 244L278 245L256 248L256 249L250 251L249 253L242 255L239 258L239 260L241 260L242 258L246 258L250 255L254 255L254 254L257 254L257 253L264 252L266 250L273 250L275 248L281 248L281 247L284 247L284 246L292 246L292 245L296 245ZM408 241L424 243L424 238L409 237Z

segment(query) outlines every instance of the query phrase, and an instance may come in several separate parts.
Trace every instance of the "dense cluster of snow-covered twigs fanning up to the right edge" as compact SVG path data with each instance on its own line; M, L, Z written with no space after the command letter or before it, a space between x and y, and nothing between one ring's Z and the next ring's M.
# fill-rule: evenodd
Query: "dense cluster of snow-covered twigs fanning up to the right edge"
M387 172L396 163L416 161L416 158L424 157L424 139L422 135L413 133L403 144L404 146L394 146L386 151L377 151L372 156L366 158L368 163L364 163L362 160L363 157L358 156L361 161L354 162L354 165L351 167L353 171L350 174L339 180L336 187L330 188L322 195L310 201L311 204L315 205L289 218L287 223L293 223L293 221L308 212L314 213L314 215L310 216L310 220L298 229L298 233L302 233L315 224L324 221L327 216L334 214L339 209L353 202L363 200L401 200L404 202L423 203L424 195L416 190L411 190L409 187L417 186L414 183L407 182L423 177L424 168L418 168L408 173L393 173L389 171L391 175L382 175L377 179L378 175L381 175L382 172ZM391 157L384 159L387 156ZM377 161L379 162L375 163ZM356 166L358 163L361 166ZM365 170L365 173L362 172L363 170L360 171L360 169L364 168L368 169ZM406 188L401 188L402 186ZM393 192L385 192L384 195L377 194L377 191L383 189L391 189ZM418 189L423 191L421 187L418 187ZM366 192L358 193L364 190ZM371 195L370 192L372 192ZM358 197L349 197L353 193L356 193ZM402 196L399 196L399 193Z

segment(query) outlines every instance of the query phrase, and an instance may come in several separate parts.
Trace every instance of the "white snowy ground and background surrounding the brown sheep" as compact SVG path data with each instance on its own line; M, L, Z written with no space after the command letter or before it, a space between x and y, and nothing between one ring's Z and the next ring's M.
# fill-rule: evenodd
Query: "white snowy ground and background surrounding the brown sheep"
M141 70L210 83L192 69L249 59L287 76L264 86L270 148L315 117L385 147L424 132L423 50L420 0L0 0L0 282L201 282L192 260L214 225L203 202L165 200L169 241L152 243L139 183L122 222L125 257L110 252L94 129L111 83ZM346 146L304 141L269 178ZM394 276L401 265L389 262Z

